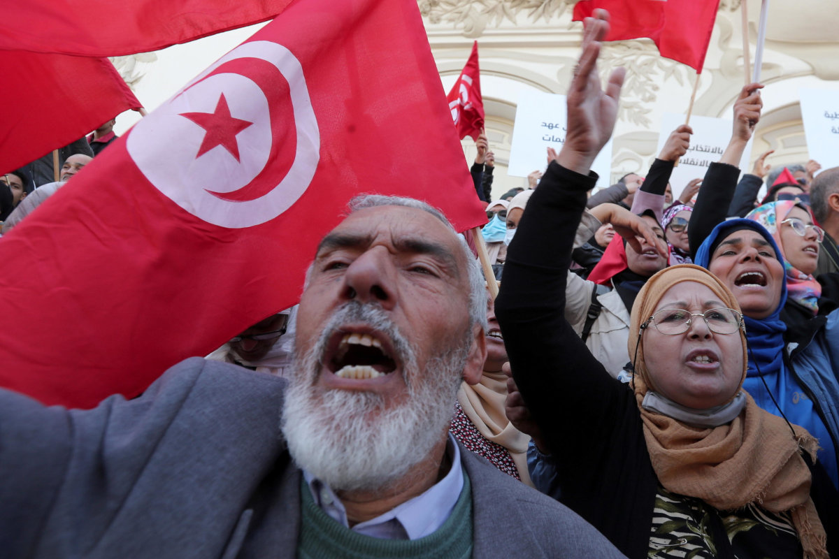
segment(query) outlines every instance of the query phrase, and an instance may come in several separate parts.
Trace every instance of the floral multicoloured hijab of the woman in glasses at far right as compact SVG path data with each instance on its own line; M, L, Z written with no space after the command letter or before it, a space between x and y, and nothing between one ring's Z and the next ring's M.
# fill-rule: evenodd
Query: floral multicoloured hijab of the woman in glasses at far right
M786 272L789 298L795 301L795 303L799 303L802 307L809 308L816 315L819 312L821 284L816 282L815 277L801 272L789 263L786 257L786 251L784 251L784 244L781 242L781 221L785 220L789 212L795 207L805 210L812 217L812 213L810 213L810 210L805 205L798 204L795 200L779 200L755 208L746 215L746 219L757 221L760 225L763 225L769 231L769 234L778 245L781 254L784 256L784 272Z

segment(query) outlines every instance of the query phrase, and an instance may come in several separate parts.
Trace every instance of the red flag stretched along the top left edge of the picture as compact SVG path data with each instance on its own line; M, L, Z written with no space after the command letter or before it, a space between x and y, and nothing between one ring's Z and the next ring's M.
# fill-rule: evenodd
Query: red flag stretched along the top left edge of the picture
M7 2L0 49L119 56L186 43L274 18L291 0L25 0Z

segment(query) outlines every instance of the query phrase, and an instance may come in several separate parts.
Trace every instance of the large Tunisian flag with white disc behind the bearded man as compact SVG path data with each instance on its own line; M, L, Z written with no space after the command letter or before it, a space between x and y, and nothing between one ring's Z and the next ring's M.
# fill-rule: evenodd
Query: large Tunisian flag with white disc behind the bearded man
M137 395L296 303L355 194L485 223L462 153L414 0L294 2L0 239L0 385Z

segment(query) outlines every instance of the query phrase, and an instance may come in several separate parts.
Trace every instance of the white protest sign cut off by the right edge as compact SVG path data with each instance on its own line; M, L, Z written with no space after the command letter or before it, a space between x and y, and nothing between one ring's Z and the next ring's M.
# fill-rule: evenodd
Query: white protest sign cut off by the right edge
M801 120L810 159L821 168L839 165L839 91L802 89Z

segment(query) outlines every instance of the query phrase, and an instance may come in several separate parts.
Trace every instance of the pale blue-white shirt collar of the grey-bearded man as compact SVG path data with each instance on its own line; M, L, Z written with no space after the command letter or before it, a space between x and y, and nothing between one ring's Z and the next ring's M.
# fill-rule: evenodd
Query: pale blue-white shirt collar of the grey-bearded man
M352 526L352 530L388 540L416 540L437 531L448 520L463 490L461 451L451 433L446 453L451 458L451 468L443 479L383 515ZM332 489L305 470L303 476L320 510L349 527L347 510Z

